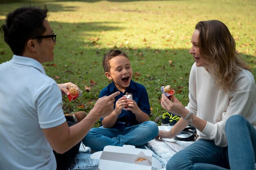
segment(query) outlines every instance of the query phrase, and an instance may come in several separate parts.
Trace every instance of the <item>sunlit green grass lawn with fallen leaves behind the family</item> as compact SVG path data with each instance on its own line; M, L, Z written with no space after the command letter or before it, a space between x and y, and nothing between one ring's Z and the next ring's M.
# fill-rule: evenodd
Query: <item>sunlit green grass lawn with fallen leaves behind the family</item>
M184 105L188 103L188 78L194 62L188 52L200 20L221 20L229 27L256 78L255 0L0 0L0 24L8 12L23 4L49 8L48 20L57 44L54 62L43 64L47 75L57 83L71 81L83 91L75 101L63 98L65 113L88 112L93 107L100 90L110 83L103 72L103 55L115 48L130 57L133 80L148 91L150 120L160 123L162 85L171 85L175 96ZM0 37L2 63L12 53L3 35ZM91 90L86 92L85 86Z

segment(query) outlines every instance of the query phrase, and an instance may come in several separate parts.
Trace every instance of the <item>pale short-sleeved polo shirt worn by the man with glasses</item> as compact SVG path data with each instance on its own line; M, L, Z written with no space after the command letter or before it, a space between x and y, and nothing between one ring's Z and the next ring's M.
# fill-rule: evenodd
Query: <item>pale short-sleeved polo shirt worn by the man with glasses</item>
M13 55L0 65L0 169L54 170L41 129L66 121L56 82L36 60Z

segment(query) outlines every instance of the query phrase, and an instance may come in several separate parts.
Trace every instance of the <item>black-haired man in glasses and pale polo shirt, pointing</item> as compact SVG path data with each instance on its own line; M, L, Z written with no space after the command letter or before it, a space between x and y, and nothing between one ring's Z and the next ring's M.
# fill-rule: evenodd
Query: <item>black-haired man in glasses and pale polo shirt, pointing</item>
M95 121L112 112L119 94L99 98L84 119L69 127L61 91L68 94L70 83L58 85L41 65L54 60L56 44L47 12L46 7L22 7L9 13L1 27L14 54L0 65L1 170L67 169L74 157L68 155L70 149L81 142Z

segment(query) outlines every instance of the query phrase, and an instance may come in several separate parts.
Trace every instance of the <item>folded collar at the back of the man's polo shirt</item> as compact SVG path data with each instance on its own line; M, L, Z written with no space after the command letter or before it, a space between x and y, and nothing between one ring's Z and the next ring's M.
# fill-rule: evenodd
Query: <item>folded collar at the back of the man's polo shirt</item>
M29 57L17 56L13 55L12 59L10 60L11 63L19 64L19 65L27 65L38 69L43 74L45 73L45 69L43 65L39 63L37 60Z

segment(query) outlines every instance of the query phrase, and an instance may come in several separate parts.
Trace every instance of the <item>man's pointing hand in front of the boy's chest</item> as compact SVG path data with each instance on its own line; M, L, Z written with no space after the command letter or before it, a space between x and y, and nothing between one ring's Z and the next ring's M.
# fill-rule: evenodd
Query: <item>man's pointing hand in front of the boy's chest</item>
M93 110L96 110L99 118L108 116L113 111L115 96L119 94L120 92L115 92L109 96L103 96L96 101Z

